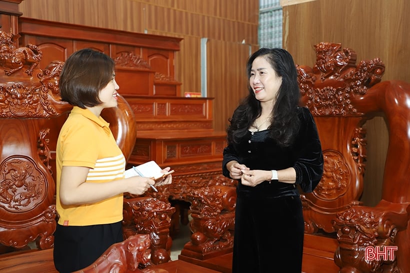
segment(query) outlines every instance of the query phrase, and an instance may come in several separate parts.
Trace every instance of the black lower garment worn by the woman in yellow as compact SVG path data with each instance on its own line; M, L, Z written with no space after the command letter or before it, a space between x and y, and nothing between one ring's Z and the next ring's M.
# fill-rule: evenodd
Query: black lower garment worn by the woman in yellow
M121 222L68 227L57 224L53 250L55 269L60 273L83 269L122 240Z

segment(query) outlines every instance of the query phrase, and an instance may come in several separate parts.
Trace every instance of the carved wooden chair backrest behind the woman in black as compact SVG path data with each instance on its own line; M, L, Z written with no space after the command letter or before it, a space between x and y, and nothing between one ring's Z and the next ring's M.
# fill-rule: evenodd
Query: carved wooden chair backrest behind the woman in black
M382 199L410 201L409 84L380 82L384 64L378 58L356 65L356 53L340 44L321 42L315 48L315 65L297 66L301 104L314 116L324 157L319 185L302 195L307 233L333 232L336 214L360 205L365 161L371 160L363 124L375 115L386 117L389 130Z

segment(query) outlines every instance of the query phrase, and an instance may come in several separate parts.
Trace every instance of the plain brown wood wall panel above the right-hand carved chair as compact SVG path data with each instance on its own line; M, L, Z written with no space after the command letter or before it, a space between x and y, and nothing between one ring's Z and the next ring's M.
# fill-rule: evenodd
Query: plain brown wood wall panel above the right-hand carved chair
M408 10L410 2L405 0L316 0L286 6L283 46L297 63L308 64L314 51L306 45L340 42L361 59L379 57L386 66L383 80L408 80L410 70L403 69L410 58Z

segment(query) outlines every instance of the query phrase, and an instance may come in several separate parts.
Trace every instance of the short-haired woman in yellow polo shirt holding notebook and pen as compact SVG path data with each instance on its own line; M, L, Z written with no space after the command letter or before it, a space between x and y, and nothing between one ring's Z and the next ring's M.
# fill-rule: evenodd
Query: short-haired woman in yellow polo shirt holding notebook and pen
M54 265L59 272L73 272L122 241L123 193L141 195L155 182L124 178L125 158L100 117L102 109L117 106L119 86L109 56L92 49L74 52L64 63L59 88L73 108L56 148ZM160 185L171 179L168 175Z

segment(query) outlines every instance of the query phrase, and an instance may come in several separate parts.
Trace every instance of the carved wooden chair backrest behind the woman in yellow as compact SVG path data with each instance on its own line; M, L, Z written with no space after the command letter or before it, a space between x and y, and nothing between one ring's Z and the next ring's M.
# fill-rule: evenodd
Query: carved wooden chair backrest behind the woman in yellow
M56 212L47 124L70 106L58 100L62 62L40 69L41 50L15 47L16 36L0 31L0 243L48 249Z

